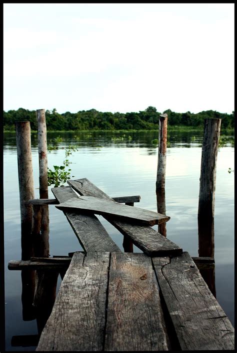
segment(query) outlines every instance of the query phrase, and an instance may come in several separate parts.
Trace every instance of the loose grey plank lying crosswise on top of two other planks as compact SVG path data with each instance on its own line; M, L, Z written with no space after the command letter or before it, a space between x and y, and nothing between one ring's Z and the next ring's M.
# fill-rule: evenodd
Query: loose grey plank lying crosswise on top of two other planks
M170 219L170 217L164 216L160 213L138 207L129 207L114 202L112 199L106 200L93 196L71 198L66 202L61 202L59 205L55 205L55 207L59 210L79 209L102 216L111 216L115 219L124 220L133 224L140 223L149 226L167 222Z

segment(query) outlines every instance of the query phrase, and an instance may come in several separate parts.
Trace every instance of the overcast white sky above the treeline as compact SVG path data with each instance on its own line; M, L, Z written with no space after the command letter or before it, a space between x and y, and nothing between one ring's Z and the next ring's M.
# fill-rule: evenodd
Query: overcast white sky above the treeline
M4 3L3 109L234 110L233 3Z

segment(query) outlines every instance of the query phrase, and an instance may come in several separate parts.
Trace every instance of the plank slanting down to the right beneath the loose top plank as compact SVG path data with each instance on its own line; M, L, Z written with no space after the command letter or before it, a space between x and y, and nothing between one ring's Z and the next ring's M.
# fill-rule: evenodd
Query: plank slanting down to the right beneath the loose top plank
M109 199L109 197L88 179L68 180L67 183L80 195L95 196ZM145 254L150 256L177 255L182 249L148 226L130 225L126 222L114 220L111 217L104 217L123 235L128 236Z

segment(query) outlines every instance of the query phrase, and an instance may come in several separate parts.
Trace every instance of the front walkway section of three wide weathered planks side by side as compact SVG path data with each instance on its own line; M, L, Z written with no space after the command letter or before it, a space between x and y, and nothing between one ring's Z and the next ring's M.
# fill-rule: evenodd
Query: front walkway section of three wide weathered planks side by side
M233 350L233 328L187 253L75 253L36 351Z

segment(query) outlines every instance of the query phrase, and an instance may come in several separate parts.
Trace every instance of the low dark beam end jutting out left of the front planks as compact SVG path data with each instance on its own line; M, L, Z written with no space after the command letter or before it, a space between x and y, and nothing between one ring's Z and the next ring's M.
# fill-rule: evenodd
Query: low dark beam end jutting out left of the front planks
M46 258L45 258L46 259ZM31 261L31 260L10 260L8 262L8 270L61 270L68 267L70 261L61 262L46 262L46 261Z

